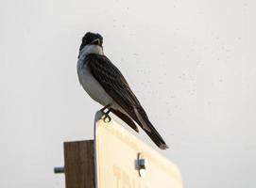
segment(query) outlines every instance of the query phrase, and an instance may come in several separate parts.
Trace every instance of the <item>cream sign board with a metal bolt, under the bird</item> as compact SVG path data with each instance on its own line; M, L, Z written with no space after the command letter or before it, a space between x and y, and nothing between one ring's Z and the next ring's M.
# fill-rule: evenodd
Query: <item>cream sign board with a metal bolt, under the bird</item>
M113 120L95 118L94 133L97 188L182 187L175 164Z

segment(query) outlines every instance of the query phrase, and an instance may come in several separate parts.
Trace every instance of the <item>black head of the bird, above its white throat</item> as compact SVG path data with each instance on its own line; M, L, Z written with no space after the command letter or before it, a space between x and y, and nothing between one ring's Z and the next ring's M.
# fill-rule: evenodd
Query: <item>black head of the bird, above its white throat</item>
M102 47L103 38L98 33L87 32L80 45L79 51L81 51L87 45L97 45Z

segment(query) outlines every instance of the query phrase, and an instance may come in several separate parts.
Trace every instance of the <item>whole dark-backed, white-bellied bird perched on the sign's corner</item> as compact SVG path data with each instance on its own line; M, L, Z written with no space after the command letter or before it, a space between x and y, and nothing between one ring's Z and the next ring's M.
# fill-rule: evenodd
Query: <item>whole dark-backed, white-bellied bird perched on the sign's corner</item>
M78 53L77 75L80 85L89 96L103 105L100 111L105 122L111 121L111 112L137 133L139 125L160 149L168 149L121 71L104 55L103 37L100 34L87 32L83 36Z

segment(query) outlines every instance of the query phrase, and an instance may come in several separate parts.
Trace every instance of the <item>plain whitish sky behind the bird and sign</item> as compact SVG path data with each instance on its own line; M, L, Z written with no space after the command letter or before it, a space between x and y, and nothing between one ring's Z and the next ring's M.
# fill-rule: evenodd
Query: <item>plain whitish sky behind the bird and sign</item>
M93 138L101 107L77 81L80 40L94 31L184 187L255 188L255 9L253 0L1 0L0 187L64 187L53 174L62 142Z

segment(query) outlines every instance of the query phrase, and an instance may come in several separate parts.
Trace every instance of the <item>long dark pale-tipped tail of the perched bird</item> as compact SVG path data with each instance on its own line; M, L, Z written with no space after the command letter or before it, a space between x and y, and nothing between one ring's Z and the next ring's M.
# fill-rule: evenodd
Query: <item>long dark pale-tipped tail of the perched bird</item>
M139 122L137 122L145 133L151 138L151 140L160 148L160 149L168 149L168 146L165 144L164 140L160 133L154 128L152 123L149 121L145 114L145 110L143 107L135 109L137 118Z

